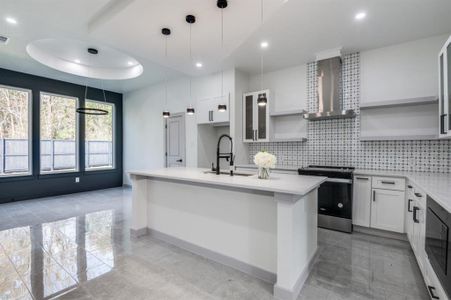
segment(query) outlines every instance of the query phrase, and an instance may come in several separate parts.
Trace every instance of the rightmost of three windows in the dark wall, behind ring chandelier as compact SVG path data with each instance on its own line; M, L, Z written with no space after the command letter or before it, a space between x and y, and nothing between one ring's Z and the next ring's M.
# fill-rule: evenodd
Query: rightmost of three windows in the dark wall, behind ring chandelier
M114 168L114 104L86 100L88 108L108 111L107 115L85 117L85 168L88 171Z

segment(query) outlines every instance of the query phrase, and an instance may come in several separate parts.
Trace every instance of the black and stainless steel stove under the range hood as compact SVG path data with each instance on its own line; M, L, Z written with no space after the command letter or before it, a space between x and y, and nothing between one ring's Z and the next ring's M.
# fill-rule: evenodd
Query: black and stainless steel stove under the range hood
M318 189L318 226L351 233L354 168L312 165L298 173L327 177Z

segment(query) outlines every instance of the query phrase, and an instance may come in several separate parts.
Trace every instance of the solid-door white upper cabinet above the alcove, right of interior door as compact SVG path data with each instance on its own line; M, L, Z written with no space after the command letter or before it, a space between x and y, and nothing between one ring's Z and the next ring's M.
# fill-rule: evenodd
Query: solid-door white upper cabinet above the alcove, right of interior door
M219 105L226 105L226 111L219 111ZM197 101L197 124L224 124L230 121L229 95Z

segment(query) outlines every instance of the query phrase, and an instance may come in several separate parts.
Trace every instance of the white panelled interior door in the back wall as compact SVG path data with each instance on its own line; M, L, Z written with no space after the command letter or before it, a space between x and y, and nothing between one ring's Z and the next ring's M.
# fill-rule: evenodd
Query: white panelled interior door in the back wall
M166 167L184 167L185 114L174 114L166 120Z

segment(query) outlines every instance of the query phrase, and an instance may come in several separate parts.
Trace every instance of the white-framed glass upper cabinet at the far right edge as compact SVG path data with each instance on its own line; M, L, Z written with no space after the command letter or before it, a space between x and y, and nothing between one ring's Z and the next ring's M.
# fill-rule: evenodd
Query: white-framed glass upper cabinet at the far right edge
M451 37L438 55L439 137L451 138Z

